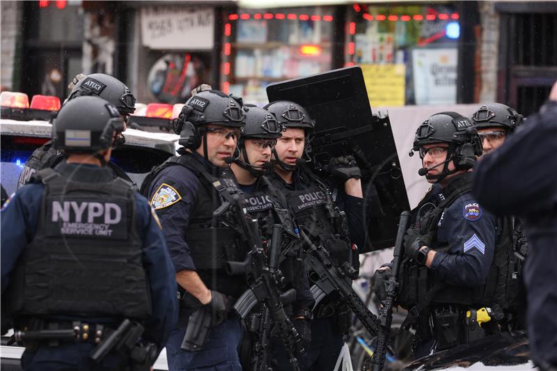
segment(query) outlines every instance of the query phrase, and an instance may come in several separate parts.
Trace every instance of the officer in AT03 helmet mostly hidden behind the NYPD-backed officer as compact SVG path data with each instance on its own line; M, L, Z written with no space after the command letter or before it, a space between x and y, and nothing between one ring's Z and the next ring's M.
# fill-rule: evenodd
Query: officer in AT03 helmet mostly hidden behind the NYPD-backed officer
M118 112L124 118L125 130L127 118L135 111L136 100L134 95L130 92L130 89L128 89L122 81L110 76L109 74L103 73L95 73L88 76L79 74L75 77L70 86L73 86L72 92L65 102L68 102L76 97L88 95L101 97L118 109ZM122 145L123 143L125 143L125 138L123 134L120 133L113 144ZM29 182L31 175L33 175L36 171L43 168L52 168L62 160L63 154L52 146L52 141L48 141L43 144L34 150L31 157L29 157L26 161L25 166L22 169L22 173L19 175L17 188L19 189L23 187L24 184ZM116 176L133 183L130 177L128 177L122 169L118 168L118 166L110 161L108 162L108 168Z

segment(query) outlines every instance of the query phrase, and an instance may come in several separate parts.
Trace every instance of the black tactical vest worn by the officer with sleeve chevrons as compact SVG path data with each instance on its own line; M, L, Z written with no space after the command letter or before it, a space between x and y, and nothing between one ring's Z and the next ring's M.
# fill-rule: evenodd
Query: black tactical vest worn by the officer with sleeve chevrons
M471 173L455 177L445 189L444 200L433 206L425 215L416 220L416 227L422 234L434 232L444 210L457 198L468 194L471 189ZM510 261L512 260L512 229L508 219L498 220L499 231L492 266L489 267L486 283L477 287L450 286L434 280L430 269L417 265L414 260L402 260L399 282L398 303L403 308L413 308L424 301L432 304L455 304L470 307L493 306L508 307L508 280L510 278ZM448 246L434 244L435 251L446 251ZM426 299L427 298L427 299Z

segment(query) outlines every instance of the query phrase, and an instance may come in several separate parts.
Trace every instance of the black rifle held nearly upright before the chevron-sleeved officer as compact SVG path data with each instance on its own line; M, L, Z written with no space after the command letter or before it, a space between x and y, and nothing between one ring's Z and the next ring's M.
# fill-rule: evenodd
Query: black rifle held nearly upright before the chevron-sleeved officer
M393 251L393 265L391 268L391 276L385 284L385 300L383 306L379 309L379 320L381 321L381 329L377 335L377 345L373 353L371 363L372 371L383 370L385 363L386 349L389 345L389 335L391 334L391 323L393 322L393 303L398 294L398 271L402 260L402 243L405 233L408 230L410 221L410 213L405 211L400 214L400 223L398 224L398 232L395 239L395 249Z

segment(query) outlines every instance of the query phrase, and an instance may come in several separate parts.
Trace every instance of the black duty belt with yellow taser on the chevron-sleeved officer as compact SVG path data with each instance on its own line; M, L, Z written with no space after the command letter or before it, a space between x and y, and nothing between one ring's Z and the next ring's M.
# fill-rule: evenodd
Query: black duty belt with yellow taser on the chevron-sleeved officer
M431 311L430 322L436 352L500 333L499 322L503 318L503 311L499 306L478 309L436 306Z

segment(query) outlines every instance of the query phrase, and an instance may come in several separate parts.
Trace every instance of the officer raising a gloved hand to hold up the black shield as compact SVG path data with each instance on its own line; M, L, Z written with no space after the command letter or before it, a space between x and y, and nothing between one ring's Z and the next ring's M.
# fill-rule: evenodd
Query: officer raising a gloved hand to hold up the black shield
M355 161L331 159L329 173L340 180L343 189L328 185L307 166L309 136L315 123L306 109L287 101L272 102L265 108L286 127L273 150L272 183L287 198L306 235L327 248L337 265L349 262L357 268L356 245L363 244L364 228L361 175ZM350 231L345 228L339 207L346 213ZM331 295L315 308L313 317L306 369L332 370L343 347L343 334L350 329L350 309Z

